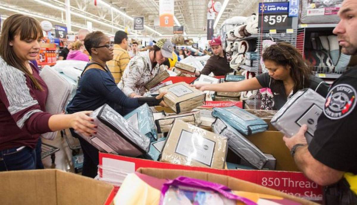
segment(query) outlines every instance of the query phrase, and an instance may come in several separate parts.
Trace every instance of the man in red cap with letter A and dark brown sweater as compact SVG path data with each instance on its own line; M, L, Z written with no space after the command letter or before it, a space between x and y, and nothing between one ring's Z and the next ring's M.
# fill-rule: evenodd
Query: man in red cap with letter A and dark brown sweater
M226 52L222 49L221 39L219 37L212 39L210 46L213 55L207 60L207 63L201 72L196 71L196 76L200 76L201 74L209 75L211 72L215 76L221 76L233 72L233 69L227 61Z

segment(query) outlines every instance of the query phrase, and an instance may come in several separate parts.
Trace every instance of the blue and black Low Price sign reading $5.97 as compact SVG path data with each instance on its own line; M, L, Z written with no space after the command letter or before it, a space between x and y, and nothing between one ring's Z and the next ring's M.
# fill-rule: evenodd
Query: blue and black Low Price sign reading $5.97
M258 26L263 30L291 29L288 2L259 3Z

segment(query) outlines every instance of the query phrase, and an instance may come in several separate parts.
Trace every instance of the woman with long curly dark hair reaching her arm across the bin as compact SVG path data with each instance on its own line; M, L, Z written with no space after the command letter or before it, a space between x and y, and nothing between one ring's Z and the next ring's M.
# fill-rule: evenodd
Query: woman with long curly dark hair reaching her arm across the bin
M263 62L268 72L241 82L220 84L197 84L201 91L243 92L260 88L270 88L274 102L273 108L280 109L293 94L304 88L311 88L326 97L328 84L312 75L300 52L288 43L277 43L266 48Z

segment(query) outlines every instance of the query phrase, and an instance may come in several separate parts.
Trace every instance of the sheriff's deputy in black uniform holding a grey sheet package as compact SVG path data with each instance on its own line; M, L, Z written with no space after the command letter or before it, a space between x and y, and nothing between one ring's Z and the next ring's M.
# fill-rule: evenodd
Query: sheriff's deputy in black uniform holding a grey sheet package
M357 1L345 0L338 15L337 34L342 53L357 54ZM357 66L331 86L318 119L315 136L307 145L306 125L284 137L296 165L324 189L325 204L357 204Z

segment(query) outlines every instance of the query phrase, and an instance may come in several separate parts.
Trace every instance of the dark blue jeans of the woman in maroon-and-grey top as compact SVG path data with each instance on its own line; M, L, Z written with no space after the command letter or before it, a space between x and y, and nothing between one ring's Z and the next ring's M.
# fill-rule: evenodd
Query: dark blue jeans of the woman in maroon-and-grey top
M35 149L25 147L0 151L0 171L36 169Z

